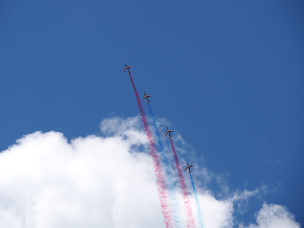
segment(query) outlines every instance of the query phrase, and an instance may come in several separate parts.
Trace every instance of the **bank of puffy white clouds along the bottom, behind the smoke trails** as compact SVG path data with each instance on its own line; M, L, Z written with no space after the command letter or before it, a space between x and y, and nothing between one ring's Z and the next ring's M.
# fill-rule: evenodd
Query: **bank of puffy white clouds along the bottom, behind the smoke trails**
M165 227L140 118L113 117L103 120L100 128L102 136L71 142L63 133L39 131L2 151L0 227ZM255 194L244 192L219 200L211 190L197 190L206 228L233 227L235 202ZM192 192L191 185L188 191ZM178 186L176 192L179 226L184 227ZM193 195L190 200L195 214ZM258 226L248 227L272 227L259 224L275 224L277 215L294 222L284 207L267 206L257 214Z

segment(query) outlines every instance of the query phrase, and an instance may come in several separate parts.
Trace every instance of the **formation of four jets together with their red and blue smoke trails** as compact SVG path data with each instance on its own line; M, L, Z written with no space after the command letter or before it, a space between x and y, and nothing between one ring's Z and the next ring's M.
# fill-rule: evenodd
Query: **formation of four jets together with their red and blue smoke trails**
M155 128L157 144L155 144L155 142L154 142L154 138L152 136L150 126L147 122L146 114L143 110L143 106L140 102L139 95L136 91L136 87L135 87L133 78L131 77L131 74L130 74L132 72L132 71L130 71L130 68L132 66L128 66L125 62L124 62L124 64L125 64L125 68L124 68L123 72L128 71L128 74L130 76L130 80L131 80L133 90L134 90L136 100L137 100L137 105L140 110L140 115L141 115L141 119L143 122L144 130L147 133L147 139L149 141L149 146L150 146L150 155L153 158L154 172L156 175L157 190L159 193L161 209L162 209L162 213L164 216L164 223L166 225L166 228L181 227L181 223L178 218L178 212L180 211L180 209L179 209L178 203L177 203L177 196L176 196L177 192L175 192L175 189L176 189L175 182L172 180L172 178L165 179L165 176L171 175L172 171L169 169L171 164L169 163L166 154L164 154L164 147L162 144L161 136L159 134L159 130L158 130L155 118L154 118L154 114L153 114L151 106L150 106L150 100L148 98L151 97L151 95L147 95L146 92L143 91L144 97L143 97L142 101L147 100L147 104L149 106L150 114L151 114L153 125ZM168 127L166 125L166 132L165 132L164 136L168 135L168 138L170 139L172 152L173 152L173 156L174 156L174 161L175 161L174 168L177 170L177 174L178 174L178 178L179 178L179 185L180 185L181 193L183 196L187 227L188 228L196 227L195 218L192 213L189 192L187 191L187 186L185 184L183 172L181 170L181 166L178 161L178 156L177 156L176 150L174 148L173 141L171 139L171 137L172 137L171 132L173 132L173 130L168 129ZM156 145L158 146L157 148L156 148ZM163 170L162 164L164 165L164 170ZM196 210L197 210L197 221L199 223L199 227L202 228L203 227L203 217L202 217L202 211L200 208L199 199L197 197L197 192L196 192L195 185L194 185L192 175L191 175L192 170L190 170L190 168L192 168L192 167L193 167L193 165L188 164L188 162L186 161L185 171L188 170L188 174L190 174L193 194L194 194L195 201L196 201L195 203L196 203Z

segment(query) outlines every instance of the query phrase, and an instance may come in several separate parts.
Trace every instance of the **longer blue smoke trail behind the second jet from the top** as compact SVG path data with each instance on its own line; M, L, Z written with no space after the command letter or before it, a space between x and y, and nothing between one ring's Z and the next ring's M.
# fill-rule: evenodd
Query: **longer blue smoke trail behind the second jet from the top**
M161 141L161 135L159 134L159 130L157 128L157 125L156 125L156 122L154 119L154 115L153 115L149 102L148 102L148 105L149 105L153 125L155 128L155 133L157 136L157 143L158 143L158 147L159 147L158 151L161 154L161 161L164 163L164 166L165 166L164 170L165 170L166 177L168 177L167 184L168 184L168 190L169 190L169 198L172 202L171 207L172 207L172 214L173 214L174 222L175 222L176 227L181 227L181 225L179 223L179 219L178 219L178 215L179 215L178 200L177 200L176 192L174 189L174 181L171 178L171 171L169 169L170 164L169 164L167 156L164 154L164 145L163 145L163 142Z

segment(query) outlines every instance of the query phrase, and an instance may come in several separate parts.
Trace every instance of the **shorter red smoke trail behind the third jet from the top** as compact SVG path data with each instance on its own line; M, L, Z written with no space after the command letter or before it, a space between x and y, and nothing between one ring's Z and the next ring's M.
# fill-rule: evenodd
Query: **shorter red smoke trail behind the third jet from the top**
M185 202L185 209L186 209L186 213L187 213L187 227L188 228L195 227L195 221L194 221L193 214L192 214L191 203L190 203L189 195L187 192L185 179L183 177L183 173L181 171L181 166L178 162L178 157L177 157L177 154L176 154L176 151L175 151L171 138L170 138L170 142L171 142L171 147L172 147L173 154L174 154L175 165L178 170L179 183L181 184L181 189L183 192L183 198L184 198L184 202Z

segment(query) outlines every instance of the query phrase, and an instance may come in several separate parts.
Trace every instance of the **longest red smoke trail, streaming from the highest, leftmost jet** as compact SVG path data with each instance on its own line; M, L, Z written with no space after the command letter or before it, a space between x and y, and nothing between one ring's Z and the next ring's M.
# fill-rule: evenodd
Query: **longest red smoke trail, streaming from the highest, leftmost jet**
M163 171L162 168L160 166L160 159L158 158L156 149L155 149L155 143L154 140L152 138L152 133L150 131L147 119L146 119L146 114L143 111L143 106L141 105L138 93L136 91L133 79L131 77L131 74L129 73L131 82L132 82L132 86L133 86L133 90L135 92L135 96L136 96L136 100L137 100L137 104L140 110L140 115L141 115L141 120L143 121L143 126L145 129L145 132L147 132L147 138L149 140L149 145L150 145L150 154L153 157L153 164L154 164L154 172L156 175L156 184L157 184L157 190L158 190L158 194L159 194L159 199L161 201L161 209L162 209L162 213L164 216L164 222L166 224L166 227L173 227L172 226L172 214L171 214L171 209L169 207L168 204L168 196L167 196L167 186L165 185L165 179L164 179L164 175L163 175Z

